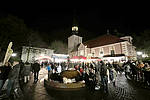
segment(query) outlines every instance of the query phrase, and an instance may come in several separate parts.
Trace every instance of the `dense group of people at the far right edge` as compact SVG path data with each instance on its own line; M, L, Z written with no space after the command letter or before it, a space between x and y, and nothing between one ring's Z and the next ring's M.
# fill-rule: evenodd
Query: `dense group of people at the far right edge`
M149 62L128 61L124 65L125 76L137 82L143 82L146 86L150 85L150 65Z

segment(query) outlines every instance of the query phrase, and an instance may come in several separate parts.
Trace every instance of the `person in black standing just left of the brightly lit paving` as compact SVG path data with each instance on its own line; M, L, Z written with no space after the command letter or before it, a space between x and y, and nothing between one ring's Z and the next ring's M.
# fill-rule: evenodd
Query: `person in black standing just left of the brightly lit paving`
M34 83L38 81L39 71L40 71L40 64L38 62L35 62L32 66L32 70L34 73Z

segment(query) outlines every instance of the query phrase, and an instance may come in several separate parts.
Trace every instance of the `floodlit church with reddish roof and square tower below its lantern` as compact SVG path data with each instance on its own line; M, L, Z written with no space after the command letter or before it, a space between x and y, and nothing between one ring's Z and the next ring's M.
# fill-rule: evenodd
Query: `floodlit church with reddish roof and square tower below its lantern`
M112 61L116 58L118 61L136 59L136 47L133 46L132 39L131 36L119 38L106 34L82 43L82 37L72 35L68 38L69 57L98 57Z

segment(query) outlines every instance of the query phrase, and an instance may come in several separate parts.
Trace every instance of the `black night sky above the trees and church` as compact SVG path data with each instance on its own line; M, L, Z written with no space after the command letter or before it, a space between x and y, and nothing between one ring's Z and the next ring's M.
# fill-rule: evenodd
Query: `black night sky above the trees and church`
M106 5L95 8L77 6L26 6L1 7L0 14L12 14L23 19L28 27L43 32L43 37L65 39L71 35L74 12L79 23L79 33L86 39L106 33L114 29L126 35L131 32L142 32L150 29L150 16L147 7L135 5ZM49 38L51 39L51 38Z

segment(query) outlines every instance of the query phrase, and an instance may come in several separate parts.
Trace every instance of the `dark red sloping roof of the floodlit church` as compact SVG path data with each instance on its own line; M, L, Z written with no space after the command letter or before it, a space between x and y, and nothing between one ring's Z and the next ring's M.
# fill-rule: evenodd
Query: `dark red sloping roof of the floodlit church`
M93 48L93 47L99 47L99 46L114 44L114 43L123 42L123 41L126 41L126 40L120 39L119 37L114 36L114 35L107 34L107 35L103 35L95 39L86 41L83 44L86 45L88 48Z

